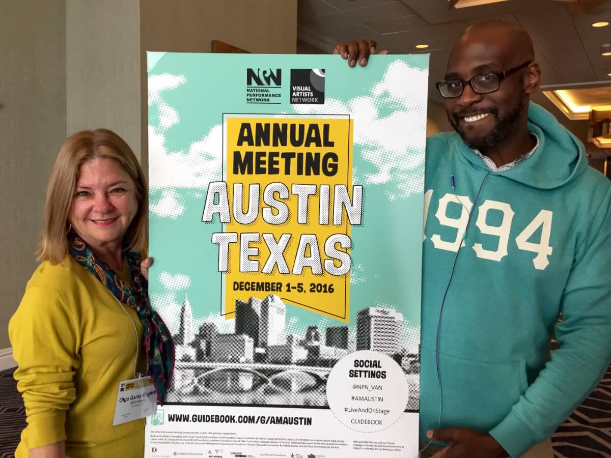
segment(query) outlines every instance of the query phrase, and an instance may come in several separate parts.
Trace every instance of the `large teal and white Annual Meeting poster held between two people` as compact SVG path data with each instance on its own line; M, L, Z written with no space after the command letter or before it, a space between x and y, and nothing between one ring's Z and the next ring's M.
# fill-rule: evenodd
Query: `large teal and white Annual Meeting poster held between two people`
M417 457L428 56L147 58L146 455Z

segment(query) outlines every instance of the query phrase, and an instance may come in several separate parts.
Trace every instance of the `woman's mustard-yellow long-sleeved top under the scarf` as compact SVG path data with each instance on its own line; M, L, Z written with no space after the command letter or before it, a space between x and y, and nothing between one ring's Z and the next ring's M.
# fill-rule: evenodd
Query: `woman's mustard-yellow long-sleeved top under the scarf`
M123 308L131 320L69 256L38 266L9 322L27 415L16 458L62 440L66 457L144 455L144 420L112 426L119 382L134 377L136 348L138 369L145 367L142 325L131 307Z

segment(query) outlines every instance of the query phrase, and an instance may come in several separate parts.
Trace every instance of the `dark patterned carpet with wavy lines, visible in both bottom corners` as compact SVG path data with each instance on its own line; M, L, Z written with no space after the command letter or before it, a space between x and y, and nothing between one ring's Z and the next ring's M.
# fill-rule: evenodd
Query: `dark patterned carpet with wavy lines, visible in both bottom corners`
M0 372L0 458L13 456L25 409L13 369ZM611 367L601 383L552 435L555 458L611 458Z

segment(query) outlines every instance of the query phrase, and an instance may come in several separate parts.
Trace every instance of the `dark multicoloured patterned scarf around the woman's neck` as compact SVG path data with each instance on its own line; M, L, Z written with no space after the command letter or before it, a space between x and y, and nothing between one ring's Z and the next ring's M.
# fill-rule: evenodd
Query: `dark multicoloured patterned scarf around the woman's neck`
M142 345L147 358L148 373L157 390L159 404L163 405L174 371L174 344L166 324L148 302L148 282L140 272L142 256L137 252L125 252L125 260L130 267L130 286L100 260L78 235L73 233L71 236L68 251L76 262L100 280L120 302L136 310L144 330Z

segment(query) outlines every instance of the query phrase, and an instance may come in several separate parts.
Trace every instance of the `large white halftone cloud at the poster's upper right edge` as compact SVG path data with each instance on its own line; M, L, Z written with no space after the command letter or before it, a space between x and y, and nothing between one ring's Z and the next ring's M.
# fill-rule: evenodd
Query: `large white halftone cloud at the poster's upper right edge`
M426 90L428 72L391 62L382 80L370 93L347 103L327 98L323 106L294 105L300 114L351 114L353 140L362 147L362 158L375 165L374 173L356 173L359 184L393 184L390 200L423 192ZM389 114L384 114L389 112Z

